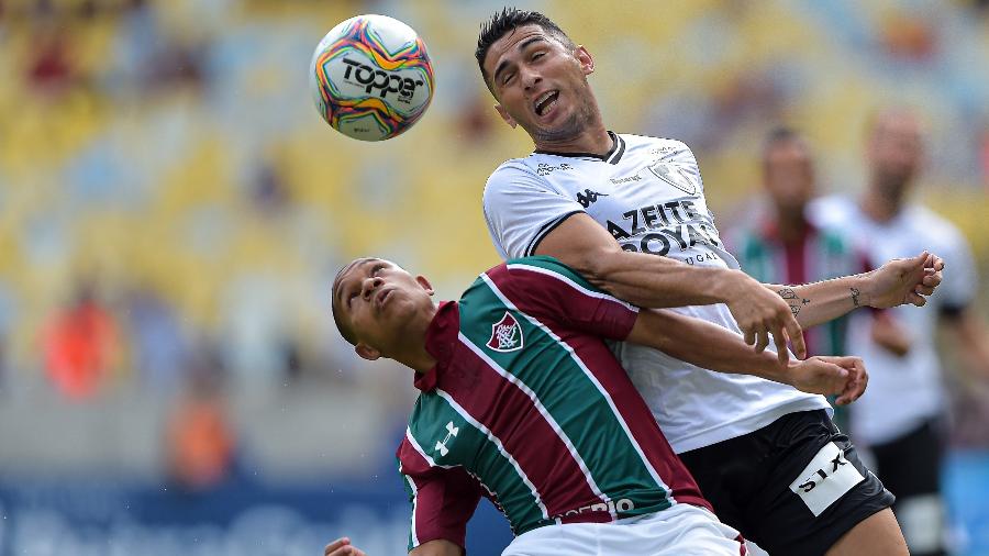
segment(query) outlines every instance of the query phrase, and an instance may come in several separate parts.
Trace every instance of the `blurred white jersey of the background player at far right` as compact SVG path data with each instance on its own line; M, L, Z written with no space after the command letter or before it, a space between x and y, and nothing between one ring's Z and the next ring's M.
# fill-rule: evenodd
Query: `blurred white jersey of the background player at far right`
M855 201L830 197L814 201L808 214L843 231L874 267L924 249L945 260L944 281L925 307L890 310L911 334L905 356L898 357L871 341L871 313L856 313L849 323L848 352L860 356L869 371L868 390L849 405L852 429L865 444L890 442L938 415L944 407L934 331L941 312L963 309L973 300L978 282L971 252L954 225L919 205L909 205L880 223L865 215Z

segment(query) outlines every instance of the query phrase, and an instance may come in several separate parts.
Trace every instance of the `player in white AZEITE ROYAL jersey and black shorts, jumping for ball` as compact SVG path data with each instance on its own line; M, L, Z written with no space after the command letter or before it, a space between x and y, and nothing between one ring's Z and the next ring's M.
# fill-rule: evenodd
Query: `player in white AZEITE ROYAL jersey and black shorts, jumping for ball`
M552 255L636 305L692 305L678 311L741 325L757 349L774 332L780 357L787 335L803 351L799 330L774 312L780 298L812 325L858 305L923 304L920 293L941 279L943 264L922 254L913 264L927 275L899 298L879 292L903 260L871 275L764 288L724 249L690 149L608 131L587 80L593 57L556 24L504 10L482 27L476 56L499 114L536 147L503 163L485 188L485 216L504 258ZM753 307L771 316L753 319ZM892 494L834 426L823 397L645 347L618 344L615 353L722 521L775 554L905 554ZM843 454L849 465L835 465Z

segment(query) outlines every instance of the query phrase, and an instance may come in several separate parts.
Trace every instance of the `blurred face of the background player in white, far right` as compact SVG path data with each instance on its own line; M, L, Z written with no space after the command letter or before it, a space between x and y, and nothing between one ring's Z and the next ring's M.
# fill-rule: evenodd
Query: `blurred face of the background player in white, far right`
M875 185L900 196L920 171L923 158L920 122L905 112L880 115L873 126L868 160Z

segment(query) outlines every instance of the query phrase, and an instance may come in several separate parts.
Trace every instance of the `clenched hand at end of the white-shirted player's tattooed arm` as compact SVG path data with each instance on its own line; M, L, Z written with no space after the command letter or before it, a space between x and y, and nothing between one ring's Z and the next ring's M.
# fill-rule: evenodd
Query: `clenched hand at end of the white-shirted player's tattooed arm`
M911 303L923 307L925 296L941 283L944 260L926 251L913 258L894 258L866 275L865 299L869 307L889 309Z

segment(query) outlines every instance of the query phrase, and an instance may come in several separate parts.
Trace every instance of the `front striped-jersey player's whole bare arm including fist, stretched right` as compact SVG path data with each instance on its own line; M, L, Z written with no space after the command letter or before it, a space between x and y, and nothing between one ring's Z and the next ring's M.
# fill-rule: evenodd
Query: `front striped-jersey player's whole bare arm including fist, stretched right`
M840 405L857 400L868 382L858 357L780 363L769 353L753 352L737 334L722 326L673 311L641 310L625 340L705 369L754 375L809 393L838 394Z

